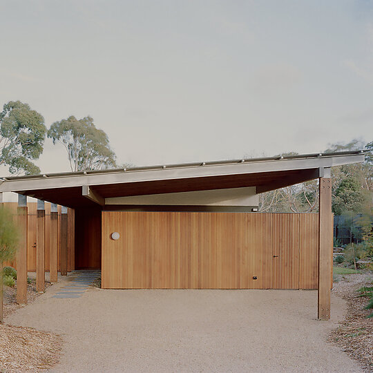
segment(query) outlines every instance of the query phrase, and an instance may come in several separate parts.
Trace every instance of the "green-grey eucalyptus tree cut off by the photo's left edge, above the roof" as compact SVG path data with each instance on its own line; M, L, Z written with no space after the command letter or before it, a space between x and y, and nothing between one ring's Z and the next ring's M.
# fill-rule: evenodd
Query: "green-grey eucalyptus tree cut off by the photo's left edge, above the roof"
M8 165L10 173L40 173L32 160L43 152L45 137L41 114L20 101L8 102L0 113L0 164Z

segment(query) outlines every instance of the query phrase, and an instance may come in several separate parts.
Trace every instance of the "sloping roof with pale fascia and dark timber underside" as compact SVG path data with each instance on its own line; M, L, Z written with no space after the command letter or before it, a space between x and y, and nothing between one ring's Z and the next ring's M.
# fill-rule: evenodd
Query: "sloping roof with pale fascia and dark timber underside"
M97 205L95 198L90 198L94 195L102 201L125 195L235 187L257 187L257 193L262 193L313 180L323 176L325 169L332 166L363 162L364 159L364 151L344 151L10 176L1 178L0 192L30 195L73 208Z

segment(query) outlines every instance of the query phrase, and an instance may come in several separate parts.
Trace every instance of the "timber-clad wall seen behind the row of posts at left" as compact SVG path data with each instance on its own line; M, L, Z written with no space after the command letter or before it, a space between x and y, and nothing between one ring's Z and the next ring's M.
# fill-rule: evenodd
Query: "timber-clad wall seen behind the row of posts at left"
M4 206L7 207L12 215L17 219L17 202L5 202ZM37 203L28 202L28 243L27 243L27 270L36 271L36 260L37 260ZM49 271L50 265L50 203L45 203L46 209L46 233L45 233L45 259L44 267L46 271ZM58 206L58 232L61 231L61 206ZM73 271L75 269L75 212L73 209L68 209L68 271ZM59 271L59 247L60 242L57 240L57 270ZM6 265L11 265L12 267L17 268L17 262L6 263Z

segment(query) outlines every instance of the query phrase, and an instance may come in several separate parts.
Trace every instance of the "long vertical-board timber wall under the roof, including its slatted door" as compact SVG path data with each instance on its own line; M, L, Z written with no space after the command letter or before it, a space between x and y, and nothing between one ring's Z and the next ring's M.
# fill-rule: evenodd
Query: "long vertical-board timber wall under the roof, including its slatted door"
M316 289L317 252L318 214L102 212L103 288Z

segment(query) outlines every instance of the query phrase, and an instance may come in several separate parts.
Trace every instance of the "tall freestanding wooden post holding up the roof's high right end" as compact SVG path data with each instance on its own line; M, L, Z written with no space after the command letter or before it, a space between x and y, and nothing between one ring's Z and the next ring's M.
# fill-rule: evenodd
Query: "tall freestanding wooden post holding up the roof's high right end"
M320 178L318 209L318 318L330 319L330 284L333 247L332 179Z

